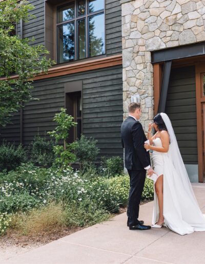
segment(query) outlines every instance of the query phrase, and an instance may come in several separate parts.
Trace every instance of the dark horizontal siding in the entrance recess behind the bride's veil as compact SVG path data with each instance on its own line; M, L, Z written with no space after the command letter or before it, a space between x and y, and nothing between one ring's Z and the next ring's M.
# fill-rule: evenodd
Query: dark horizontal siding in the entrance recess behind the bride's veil
M172 121L185 164L197 164L195 68L171 71L166 113Z

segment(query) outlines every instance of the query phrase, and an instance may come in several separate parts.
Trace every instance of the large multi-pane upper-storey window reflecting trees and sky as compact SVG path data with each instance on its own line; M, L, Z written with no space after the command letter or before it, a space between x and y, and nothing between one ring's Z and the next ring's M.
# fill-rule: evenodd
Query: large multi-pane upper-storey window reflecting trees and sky
M57 7L57 62L105 54L104 0L75 0Z

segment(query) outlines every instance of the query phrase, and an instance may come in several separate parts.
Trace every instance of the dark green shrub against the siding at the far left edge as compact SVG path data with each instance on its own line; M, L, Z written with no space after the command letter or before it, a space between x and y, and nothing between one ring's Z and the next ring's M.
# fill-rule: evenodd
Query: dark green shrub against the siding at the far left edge
M10 171L27 161L27 151L22 144L17 147L14 144L3 142L0 146L0 171Z

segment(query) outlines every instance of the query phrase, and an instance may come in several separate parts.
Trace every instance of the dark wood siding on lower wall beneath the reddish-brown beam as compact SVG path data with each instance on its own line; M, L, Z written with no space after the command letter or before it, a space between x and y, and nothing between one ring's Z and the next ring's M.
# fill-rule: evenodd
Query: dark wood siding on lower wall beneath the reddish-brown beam
M75 80L83 80L83 134L98 140L101 155L122 157L121 66L35 81L32 95L39 100L30 101L24 107L24 145L29 145L35 135L47 135L47 131L55 128L52 119L65 107L64 85ZM19 123L2 128L2 135L8 141L19 143Z

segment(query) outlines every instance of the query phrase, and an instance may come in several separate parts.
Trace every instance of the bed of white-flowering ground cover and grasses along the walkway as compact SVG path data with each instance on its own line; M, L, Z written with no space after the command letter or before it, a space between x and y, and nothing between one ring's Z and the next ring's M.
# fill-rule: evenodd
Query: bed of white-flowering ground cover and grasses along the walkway
M0 173L0 233L8 228L33 234L93 225L125 207L128 194L128 175L85 176L68 165L40 168L22 164ZM146 180L142 198L153 198L151 180Z

